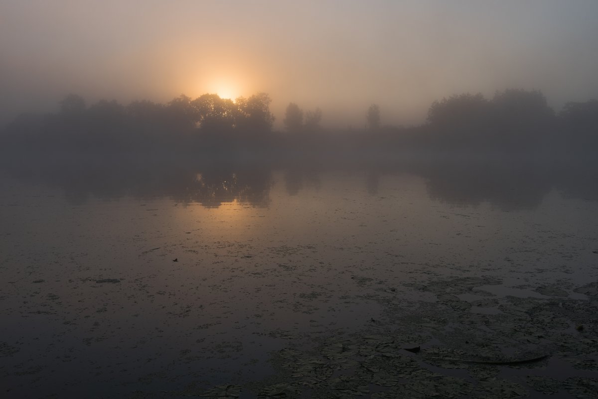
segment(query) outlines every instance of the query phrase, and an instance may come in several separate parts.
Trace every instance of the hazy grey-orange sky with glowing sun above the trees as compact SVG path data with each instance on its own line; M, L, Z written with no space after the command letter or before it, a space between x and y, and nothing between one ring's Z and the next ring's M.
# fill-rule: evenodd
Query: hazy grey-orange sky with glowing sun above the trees
M266 91L324 125L420 123L444 96L598 97L598 1L0 0L0 122L88 103Z

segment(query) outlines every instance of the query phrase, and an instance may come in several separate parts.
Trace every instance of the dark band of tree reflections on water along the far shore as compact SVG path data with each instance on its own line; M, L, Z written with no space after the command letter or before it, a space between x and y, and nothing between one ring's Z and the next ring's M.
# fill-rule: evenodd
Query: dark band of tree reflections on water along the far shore
M166 160L114 159L112 162L65 159L4 162L13 179L60 188L72 204L90 197L168 197L181 203L217 208L237 201L268 207L273 173L282 172L286 194L308 186L321 188L325 173L361 173L362 188L377 195L380 179L397 173L419 176L432 199L477 206L482 202L502 210L533 209L557 189L569 198L598 200L598 168L594 161L537 161L530 159L443 159L428 161L343 162L218 162L209 164Z

